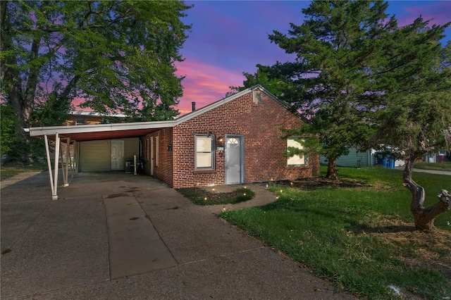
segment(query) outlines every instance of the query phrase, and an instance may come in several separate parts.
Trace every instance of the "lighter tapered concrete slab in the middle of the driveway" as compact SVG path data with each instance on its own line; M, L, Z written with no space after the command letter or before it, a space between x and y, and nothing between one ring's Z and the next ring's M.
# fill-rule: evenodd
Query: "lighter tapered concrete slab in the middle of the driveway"
M134 196L104 196L110 245L111 278L177 265Z

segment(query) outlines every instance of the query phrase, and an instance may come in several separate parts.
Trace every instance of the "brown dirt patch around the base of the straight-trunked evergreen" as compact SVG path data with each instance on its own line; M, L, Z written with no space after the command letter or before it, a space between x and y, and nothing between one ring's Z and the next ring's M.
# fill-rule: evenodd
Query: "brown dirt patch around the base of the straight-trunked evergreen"
M329 179L324 177L313 177L313 178L299 178L292 182L285 183L286 185L291 185L292 187L299 187L301 189L313 190L313 189L323 189L325 187L332 188L355 188L355 187L370 187L364 182L359 182L352 179Z

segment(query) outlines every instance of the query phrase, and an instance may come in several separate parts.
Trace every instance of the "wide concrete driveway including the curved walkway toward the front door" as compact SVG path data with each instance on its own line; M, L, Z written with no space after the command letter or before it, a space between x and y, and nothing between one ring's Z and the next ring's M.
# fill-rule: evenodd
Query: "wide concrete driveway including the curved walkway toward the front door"
M274 201L263 186L240 206ZM355 299L152 177L1 182L1 299ZM240 206L228 206L228 209Z

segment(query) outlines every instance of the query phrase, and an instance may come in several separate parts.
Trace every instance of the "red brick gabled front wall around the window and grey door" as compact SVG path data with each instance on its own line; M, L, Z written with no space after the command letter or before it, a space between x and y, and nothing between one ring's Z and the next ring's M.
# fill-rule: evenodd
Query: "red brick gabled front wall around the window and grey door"
M261 104L254 104L252 92L249 92L173 127L174 188L225 183L224 151L217 150L219 139L224 139L225 135L243 135L245 138L246 183L319 175L318 155L309 156L307 166L287 167L287 158L282 156L286 141L280 139L279 128L297 128L303 121L263 95ZM214 170L194 170L194 135L197 134L215 135Z

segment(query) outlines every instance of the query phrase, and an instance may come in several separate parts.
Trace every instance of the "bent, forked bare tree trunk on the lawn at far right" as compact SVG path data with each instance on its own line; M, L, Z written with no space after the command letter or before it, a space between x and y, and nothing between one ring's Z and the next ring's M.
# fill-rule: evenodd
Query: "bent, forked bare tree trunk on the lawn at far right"
M434 220L451 208L451 194L446 189L442 189L438 195L439 201L427 208L424 204L424 188L412 180L412 169L414 167L415 158L408 158L407 164L404 167L403 179L404 187L407 187L412 193L412 203L410 204L410 211L414 215L415 227L417 230L431 231L434 228Z

